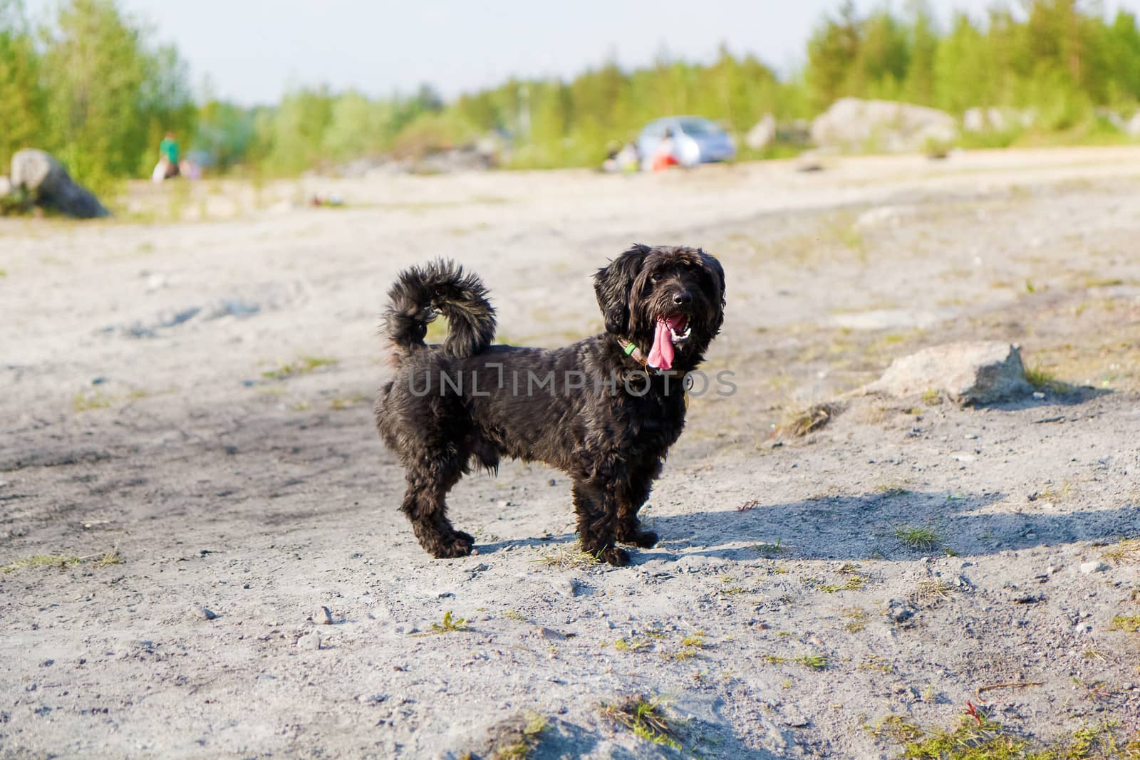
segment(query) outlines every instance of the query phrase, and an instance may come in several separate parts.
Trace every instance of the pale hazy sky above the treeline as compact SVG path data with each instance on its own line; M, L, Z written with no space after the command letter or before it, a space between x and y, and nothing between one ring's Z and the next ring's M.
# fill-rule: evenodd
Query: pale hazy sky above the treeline
M895 0L896 9L906 0ZM1096 2L1096 0L1092 0ZM1017 0L1013 0L1016 3ZM43 18L56 0L26 0ZM177 44L195 89L274 103L290 87L327 83L370 96L430 82L445 96L524 77L572 76L616 56L652 63L660 50L709 60L723 41L781 72L803 64L804 42L840 0L120 0ZM861 10L882 0L856 0ZM929 0L980 17L994 0ZM1140 13L1140 0L1102 0Z

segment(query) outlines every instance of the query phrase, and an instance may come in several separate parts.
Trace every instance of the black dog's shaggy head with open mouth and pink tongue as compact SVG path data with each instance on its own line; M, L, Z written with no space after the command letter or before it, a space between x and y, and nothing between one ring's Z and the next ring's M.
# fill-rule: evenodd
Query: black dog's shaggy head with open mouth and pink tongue
M724 269L700 248L635 245L597 270L594 292L608 333L673 369L695 367L724 321Z

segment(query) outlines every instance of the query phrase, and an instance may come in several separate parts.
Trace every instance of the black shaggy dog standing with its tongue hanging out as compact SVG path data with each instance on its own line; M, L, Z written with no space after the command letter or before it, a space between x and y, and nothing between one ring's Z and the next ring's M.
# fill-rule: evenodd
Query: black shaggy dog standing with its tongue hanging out
M616 544L650 547L637 510L685 424L685 373L724 318L724 270L699 248L635 245L594 275L605 332L562 349L491 345L495 310L463 268L404 271L384 335L394 379L376 427L407 471L400 507L424 549L461 557L474 540L447 518L447 492L500 456L544 461L573 480L583 549L625 565ZM447 317L442 345L424 344Z

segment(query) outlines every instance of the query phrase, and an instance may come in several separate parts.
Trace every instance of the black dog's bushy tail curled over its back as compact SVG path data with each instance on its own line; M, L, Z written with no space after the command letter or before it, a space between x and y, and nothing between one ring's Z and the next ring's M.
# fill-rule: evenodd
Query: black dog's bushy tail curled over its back
M443 342L449 356L474 356L495 337L495 309L487 300L487 288L475 275L464 275L454 261L439 259L405 269L388 297L382 332L397 362L424 346L427 324L437 311L450 326Z

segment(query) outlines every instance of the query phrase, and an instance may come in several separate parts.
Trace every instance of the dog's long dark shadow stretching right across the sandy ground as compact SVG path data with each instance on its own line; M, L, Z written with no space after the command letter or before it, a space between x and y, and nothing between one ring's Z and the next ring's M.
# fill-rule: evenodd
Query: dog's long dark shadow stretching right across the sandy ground
M888 491L834 496L784 504L758 504L746 510L701 510L656 516L643 522L660 542L630 551L635 564L710 556L755 561L914 559L950 553L980 556L1077 541L1115 541L1140 534L1140 505L1064 510L1042 501L1033 512L999 512L1004 495L955 491ZM506 547L542 550L575 540L572 533L479 545L480 554Z

